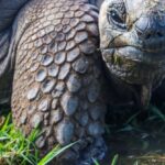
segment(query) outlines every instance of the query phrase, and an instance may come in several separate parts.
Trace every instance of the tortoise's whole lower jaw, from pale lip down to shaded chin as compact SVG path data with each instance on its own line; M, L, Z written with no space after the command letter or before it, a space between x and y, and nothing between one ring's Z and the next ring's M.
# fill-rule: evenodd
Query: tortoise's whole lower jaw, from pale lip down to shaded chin
M165 50L147 52L134 46L102 50L109 72L129 84L144 85L165 75Z

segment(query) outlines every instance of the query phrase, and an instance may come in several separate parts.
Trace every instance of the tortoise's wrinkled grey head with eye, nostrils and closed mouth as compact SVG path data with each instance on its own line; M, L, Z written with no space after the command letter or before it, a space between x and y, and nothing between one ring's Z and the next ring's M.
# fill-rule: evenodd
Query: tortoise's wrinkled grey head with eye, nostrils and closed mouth
M165 75L165 2L105 0L100 48L109 73L131 85L156 88ZM147 96L147 95L146 95Z

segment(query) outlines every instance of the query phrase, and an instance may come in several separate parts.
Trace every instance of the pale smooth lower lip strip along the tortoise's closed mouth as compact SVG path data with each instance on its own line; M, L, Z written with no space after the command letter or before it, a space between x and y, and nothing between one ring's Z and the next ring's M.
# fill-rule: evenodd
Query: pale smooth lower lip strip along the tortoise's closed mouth
M111 47L102 51L105 59L112 58L144 63L154 66L165 65L165 47L147 50L135 46Z

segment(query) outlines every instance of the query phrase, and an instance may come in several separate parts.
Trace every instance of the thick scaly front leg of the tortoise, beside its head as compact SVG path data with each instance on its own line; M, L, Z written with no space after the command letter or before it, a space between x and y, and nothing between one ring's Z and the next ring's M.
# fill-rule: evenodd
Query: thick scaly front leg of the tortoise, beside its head
M65 155L79 158L89 142L102 143L106 107L97 20L98 9L84 1L33 0L15 21L13 122L25 134L40 127L36 145L43 153L81 140Z

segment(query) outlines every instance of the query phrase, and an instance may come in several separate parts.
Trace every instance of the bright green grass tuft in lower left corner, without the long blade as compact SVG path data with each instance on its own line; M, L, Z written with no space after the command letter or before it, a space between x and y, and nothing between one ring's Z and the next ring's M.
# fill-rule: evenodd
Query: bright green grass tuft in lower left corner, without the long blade
M9 114L0 130L0 164L35 164L38 153L33 142L37 135L38 130L34 130L24 138L11 123L11 114Z

